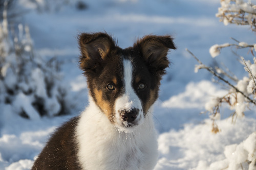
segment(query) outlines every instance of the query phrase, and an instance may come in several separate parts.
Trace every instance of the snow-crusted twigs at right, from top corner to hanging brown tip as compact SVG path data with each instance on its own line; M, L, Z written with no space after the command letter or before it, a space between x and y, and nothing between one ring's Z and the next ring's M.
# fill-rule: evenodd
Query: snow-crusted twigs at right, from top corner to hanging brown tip
M237 25L250 25L253 32L256 32L256 6L250 1L245 3L243 0L223 0L221 1L221 7L216 14L220 17L225 25L228 23L236 23ZM209 49L211 57L217 57L220 55L221 49L225 47L234 46L238 49L249 48L252 56L253 51L256 51L256 43L248 44L246 42L240 42L232 38L236 43L224 43L212 45ZM188 50L187 50L188 51ZM215 120L220 118L220 107L222 103L227 103L230 110L233 110L232 120L237 117L243 117L244 112L252 105L256 105L256 58L251 61L245 61L242 56L239 56L240 63L244 65L245 71L248 72L248 76L239 80L228 68L215 68L204 65L193 53L188 51L200 65L196 65L195 72L199 69L206 69L212 75L223 81L230 88L226 95L212 99L205 104L205 109L210 112L210 118L214 121L213 132L219 132L218 126L215 124ZM237 55L237 54L236 54ZM234 58L236 59L236 58ZM230 81L234 83L230 83Z

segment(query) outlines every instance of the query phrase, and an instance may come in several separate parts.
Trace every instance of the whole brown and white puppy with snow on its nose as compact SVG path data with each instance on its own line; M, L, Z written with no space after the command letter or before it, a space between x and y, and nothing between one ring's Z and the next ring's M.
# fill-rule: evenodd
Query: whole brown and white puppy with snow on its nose
M160 80L169 65L169 35L146 35L132 47L107 33L81 33L80 68L89 106L58 128L32 169L153 169L158 160L152 118Z

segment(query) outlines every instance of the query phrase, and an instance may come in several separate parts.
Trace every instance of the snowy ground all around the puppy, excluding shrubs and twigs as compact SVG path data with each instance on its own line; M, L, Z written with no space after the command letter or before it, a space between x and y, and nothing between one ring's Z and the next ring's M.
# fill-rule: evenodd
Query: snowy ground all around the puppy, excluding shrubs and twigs
M239 165L233 169L242 169L244 157L248 155L249 160L256 154L255 107L244 118L231 123L231 111L224 105L222 117L216 121L221 130L217 134L211 133L208 115L200 114L208 100L225 94L225 90L210 81L212 76L208 72L194 72L197 62L185 48L207 65L224 62L241 79L248 75L241 71L243 66L229 49L212 59L209 48L232 42L230 37L255 43L255 34L249 27L224 26L219 22L215 17L219 0L98 0L86 1L88 9L82 11L75 8L73 1L57 12L41 13L33 10L30 1L19 2L30 9L20 17L20 22L30 28L36 53L43 58L57 56L63 62L64 83L72 91L76 111L32 121L13 114L11 106L0 104L0 169L30 169L54 129L87 106L86 80L78 69L76 36L97 31L112 34L121 47L131 46L136 38L146 34L171 34L175 38L178 49L168 56L172 65L162 80L155 105L160 152L155 169L231 169L231 165ZM247 51L242 55L252 59ZM247 164L243 167L248 169Z

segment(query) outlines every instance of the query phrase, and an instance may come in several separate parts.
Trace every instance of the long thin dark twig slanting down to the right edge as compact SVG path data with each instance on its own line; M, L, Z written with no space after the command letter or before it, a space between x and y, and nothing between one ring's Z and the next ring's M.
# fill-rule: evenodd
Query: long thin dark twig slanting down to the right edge
M204 65L193 53L191 53L187 48L186 51L193 56L199 64ZM239 90L237 87L233 86L231 83L229 83L227 80L223 79L221 76L219 76L211 67L205 67L206 70L208 70L212 75L214 75L215 77L217 77L218 79L222 80L223 82L225 82L226 84L228 84L229 86L231 86L234 90L236 90L236 92L241 93L246 99L248 99L250 101L250 103L253 103L254 105L256 105L256 101L252 100L249 98L248 95L246 95L244 92L242 92L241 90Z

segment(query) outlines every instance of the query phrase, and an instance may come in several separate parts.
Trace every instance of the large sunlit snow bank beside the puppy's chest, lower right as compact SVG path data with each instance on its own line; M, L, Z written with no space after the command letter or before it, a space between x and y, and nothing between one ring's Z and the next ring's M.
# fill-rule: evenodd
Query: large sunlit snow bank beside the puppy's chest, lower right
M219 170L218 166L227 165L233 159L247 159L248 153L232 158L232 151L229 145L232 143L243 142L240 135L244 134L245 139L252 133L255 133L255 119L239 119L236 124L227 124L227 120L218 120L221 127L221 133L209 133L210 120L205 120L198 125L185 125L184 129L179 131L170 130L159 135L160 159L156 169L214 169ZM252 123L252 127L243 127L247 123ZM243 125L242 125L243 124ZM208 125L208 126L207 126ZM240 129L242 128L242 129ZM234 138L234 136L239 138ZM250 142L253 145L253 139ZM255 144L255 143L254 143ZM227 151L226 151L227 145ZM230 149L229 149L230 148ZM243 154L246 153L244 149ZM227 152L228 160L226 159ZM176 153L176 154L172 154ZM238 152L239 153L239 152ZM221 162L219 162L221 161ZM200 163L198 163L200 162ZM217 163L218 162L218 163ZM227 167L227 166L226 166Z

